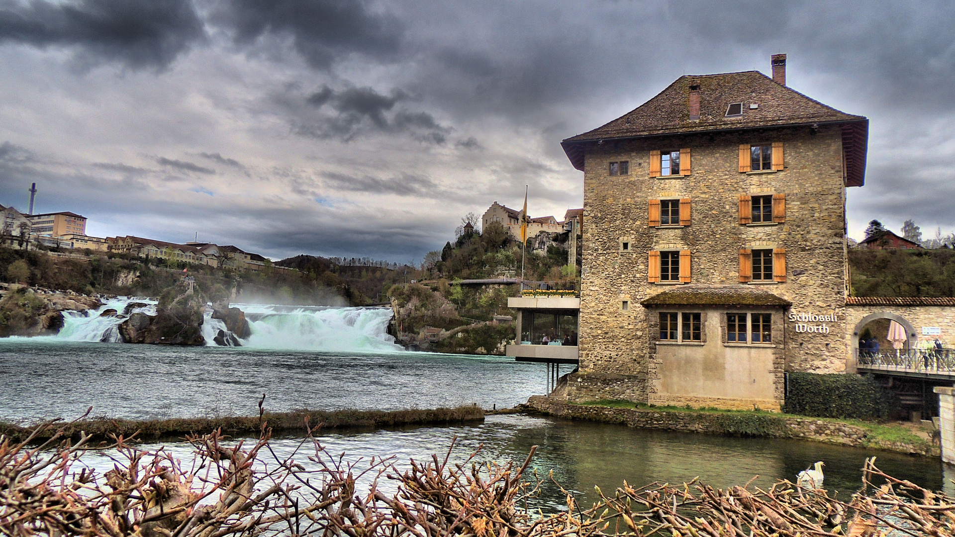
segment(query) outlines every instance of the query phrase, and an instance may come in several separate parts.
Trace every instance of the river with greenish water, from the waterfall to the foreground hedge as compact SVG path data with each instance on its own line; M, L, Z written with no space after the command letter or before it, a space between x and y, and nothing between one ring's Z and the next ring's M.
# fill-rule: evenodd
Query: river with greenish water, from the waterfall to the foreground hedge
M510 407L544 391L542 364L400 351L384 333L387 322L380 322L380 310L258 310L249 338L257 343L241 348L99 342L115 321L95 315L68 319L69 330L58 336L0 339L0 419L69 419L89 406L94 416L130 419L255 415L263 393L266 409L273 411L471 403L491 408ZM483 443L486 459L522 460L532 445L539 445L534 468L542 477L553 471L559 483L582 491L585 499L592 499L595 484L610 491L624 480L680 483L700 476L721 486L745 483L755 475L762 484L792 480L816 461L826 462L827 488L849 493L859 486L862 461L872 455L897 477L949 493L948 483L955 477L947 475L938 459L801 440L723 438L520 415L459 426L334 432L321 440L331 452L353 459L397 455L420 460L446 451L454 437L460 442L455 459ZM298 441L279 438L275 447L287 453ZM188 456L188 447L175 440L169 448ZM561 504L556 485L547 484L540 505Z

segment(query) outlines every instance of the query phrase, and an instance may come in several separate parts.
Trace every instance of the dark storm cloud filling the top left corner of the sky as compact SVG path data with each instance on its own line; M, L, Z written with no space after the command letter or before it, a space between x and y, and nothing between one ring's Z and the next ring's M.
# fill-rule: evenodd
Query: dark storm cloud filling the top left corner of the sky
M0 0L0 43L78 47L134 69L164 68L204 35L189 0Z

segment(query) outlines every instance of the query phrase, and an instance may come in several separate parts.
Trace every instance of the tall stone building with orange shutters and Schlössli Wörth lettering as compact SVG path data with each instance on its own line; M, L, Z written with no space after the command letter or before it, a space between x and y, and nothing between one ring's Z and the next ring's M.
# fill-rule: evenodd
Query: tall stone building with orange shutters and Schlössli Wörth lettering
M772 65L681 76L562 141L584 171L568 397L775 410L785 371L846 370L845 197L868 119Z

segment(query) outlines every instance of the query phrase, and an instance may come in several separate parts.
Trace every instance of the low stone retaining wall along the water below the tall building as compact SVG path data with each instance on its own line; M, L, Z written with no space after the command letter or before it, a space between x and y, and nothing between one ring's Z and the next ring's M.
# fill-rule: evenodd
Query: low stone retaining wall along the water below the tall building
M642 429L813 440L931 457L939 457L941 454L939 446L929 445L927 442L924 444L909 444L876 440L870 438L868 431L862 427L825 419L752 414L734 415L732 413L693 412L690 410L611 408L571 404L565 400L543 396L530 397L525 407L560 418L619 423ZM753 417L756 428L748 427L745 423L738 424L739 417L744 419ZM747 431L749 431L749 434L747 434ZM757 431L758 434L753 434Z

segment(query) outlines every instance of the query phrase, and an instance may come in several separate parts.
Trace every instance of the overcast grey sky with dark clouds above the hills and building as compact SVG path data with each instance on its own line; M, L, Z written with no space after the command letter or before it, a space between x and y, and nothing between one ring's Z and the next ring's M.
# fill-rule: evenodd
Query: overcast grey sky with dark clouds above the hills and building
M96 236L420 259L582 204L560 140L685 74L870 118L850 235L955 230L955 3L0 0L0 204Z

